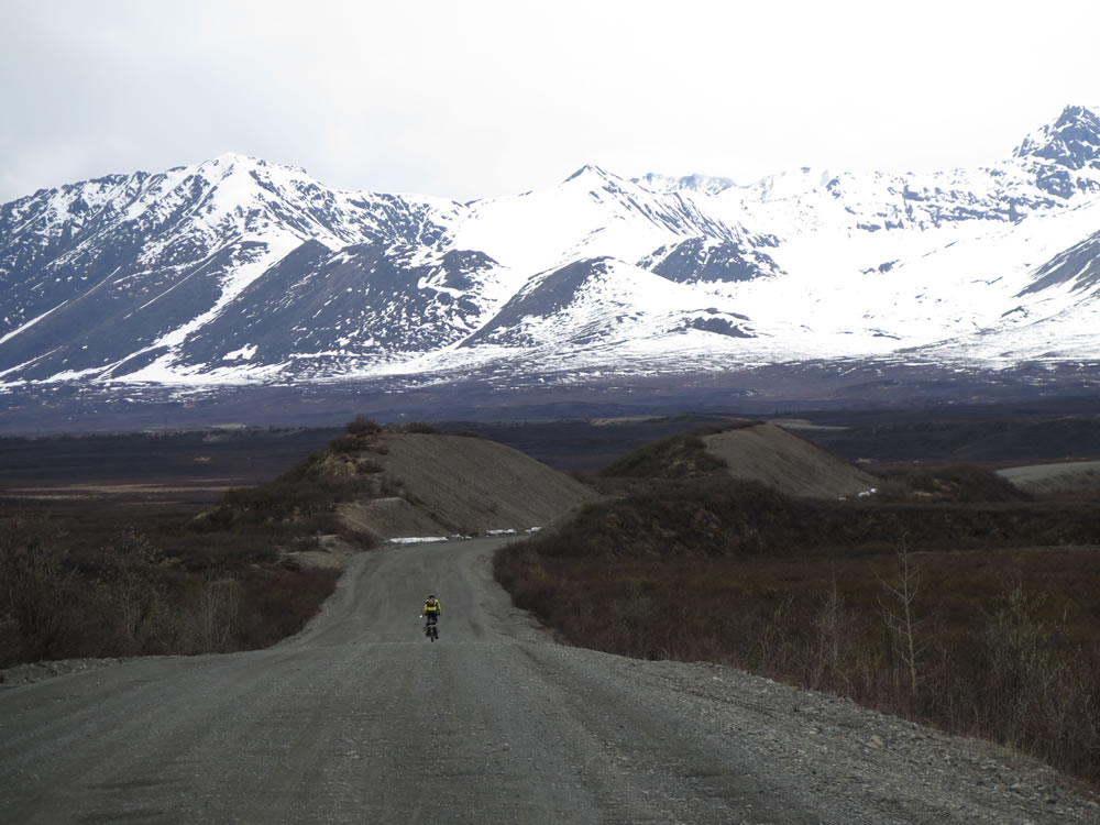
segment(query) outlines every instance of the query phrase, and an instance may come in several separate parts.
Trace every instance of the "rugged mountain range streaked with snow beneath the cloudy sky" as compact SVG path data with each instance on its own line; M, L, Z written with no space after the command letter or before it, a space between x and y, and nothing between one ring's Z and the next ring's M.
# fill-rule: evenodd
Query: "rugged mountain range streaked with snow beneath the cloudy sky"
M0 207L0 385L974 367L1100 350L1100 109L1004 162L459 204L238 155Z

